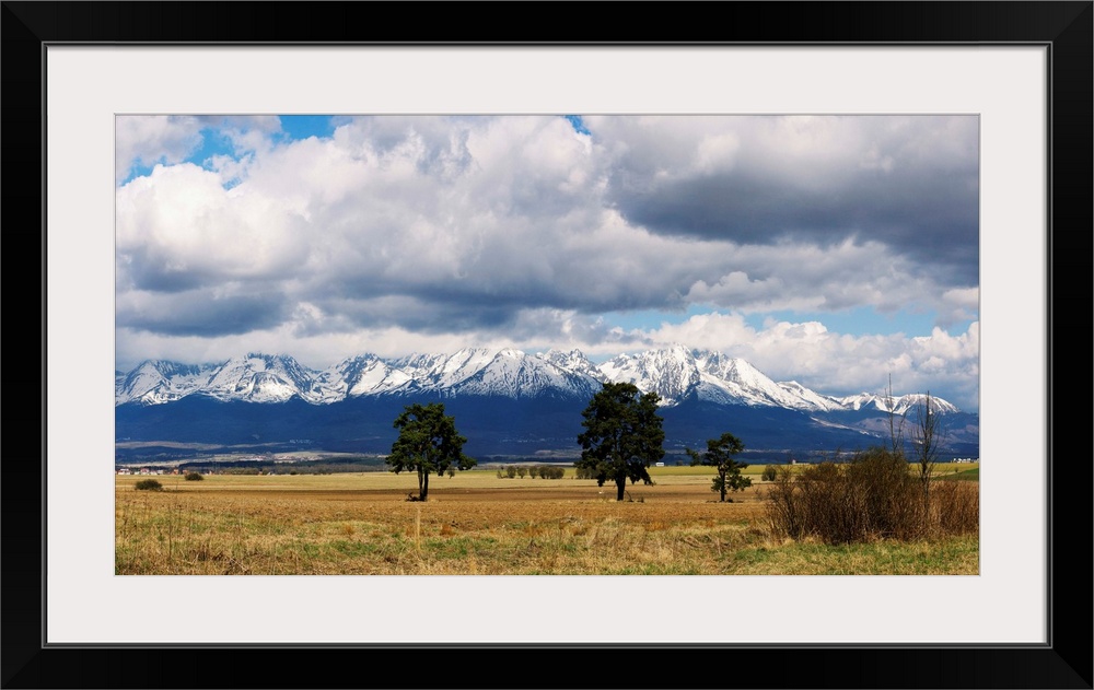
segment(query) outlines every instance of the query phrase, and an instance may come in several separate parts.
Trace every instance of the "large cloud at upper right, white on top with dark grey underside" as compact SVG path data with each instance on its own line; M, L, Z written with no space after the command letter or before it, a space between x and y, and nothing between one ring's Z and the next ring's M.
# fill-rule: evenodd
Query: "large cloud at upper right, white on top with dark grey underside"
M619 126L632 138L608 197L629 222L737 244L878 242L944 283L978 281L976 118L728 118L717 137L696 125L671 152L667 126Z

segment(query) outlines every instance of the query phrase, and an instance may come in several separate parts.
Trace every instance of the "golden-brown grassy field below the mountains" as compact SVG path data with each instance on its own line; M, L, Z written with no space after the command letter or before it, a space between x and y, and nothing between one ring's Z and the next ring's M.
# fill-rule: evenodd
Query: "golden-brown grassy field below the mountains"
M978 469L968 465L962 470ZM712 471L651 468L655 484L412 475L116 478L115 573L383 575L977 574L976 535L830 547L773 538L765 483L718 503ZM940 475L955 475L940 468Z

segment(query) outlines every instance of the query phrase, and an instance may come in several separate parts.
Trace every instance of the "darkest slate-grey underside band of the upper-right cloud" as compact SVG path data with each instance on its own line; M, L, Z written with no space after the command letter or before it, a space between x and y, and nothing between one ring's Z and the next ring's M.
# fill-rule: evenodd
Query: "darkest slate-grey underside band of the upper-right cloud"
M729 174L675 182L616 200L632 223L653 232L742 244L783 239L821 246L848 238L881 242L898 254L978 280L979 224L975 174L852 179L845 189L815 190Z

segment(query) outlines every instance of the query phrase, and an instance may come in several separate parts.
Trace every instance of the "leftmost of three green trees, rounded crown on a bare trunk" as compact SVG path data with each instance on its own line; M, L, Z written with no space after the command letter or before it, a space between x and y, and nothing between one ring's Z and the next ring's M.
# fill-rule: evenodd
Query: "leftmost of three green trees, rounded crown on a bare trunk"
M467 438L456 432L455 419L444 413L440 402L408 405L395 419L399 437L392 445L385 463L393 472L418 472L418 500L429 495L429 476L444 475L451 467L459 470L475 467L475 459L464 455Z

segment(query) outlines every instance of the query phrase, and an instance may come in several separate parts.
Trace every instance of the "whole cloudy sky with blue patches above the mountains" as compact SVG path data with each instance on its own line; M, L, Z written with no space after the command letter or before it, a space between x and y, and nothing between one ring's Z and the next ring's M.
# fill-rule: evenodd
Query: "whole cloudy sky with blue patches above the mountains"
M979 409L976 116L118 116L116 369L683 343Z

